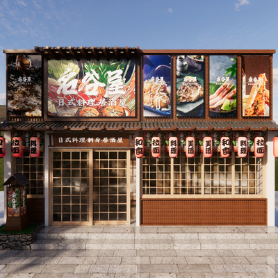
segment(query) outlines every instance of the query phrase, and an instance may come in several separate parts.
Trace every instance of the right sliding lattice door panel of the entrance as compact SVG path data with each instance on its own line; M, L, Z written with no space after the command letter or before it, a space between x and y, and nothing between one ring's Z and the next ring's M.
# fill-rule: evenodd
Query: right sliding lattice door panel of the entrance
M129 209L129 167L126 151L94 151L93 220L127 221Z

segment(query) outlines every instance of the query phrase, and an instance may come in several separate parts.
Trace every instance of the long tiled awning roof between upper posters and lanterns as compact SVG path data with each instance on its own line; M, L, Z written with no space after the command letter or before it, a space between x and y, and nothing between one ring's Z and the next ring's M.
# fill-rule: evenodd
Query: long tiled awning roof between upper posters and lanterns
M278 131L275 121L8 122L0 131Z

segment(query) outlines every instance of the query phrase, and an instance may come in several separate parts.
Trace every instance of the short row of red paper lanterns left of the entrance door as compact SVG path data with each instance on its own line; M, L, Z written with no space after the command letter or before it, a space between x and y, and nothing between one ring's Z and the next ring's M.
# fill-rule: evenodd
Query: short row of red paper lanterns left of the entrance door
M12 141L12 153L13 157L22 157L22 138L14 137ZM6 140L4 137L0 137L0 158L6 155ZM32 137L30 139L30 156L40 156L40 138Z

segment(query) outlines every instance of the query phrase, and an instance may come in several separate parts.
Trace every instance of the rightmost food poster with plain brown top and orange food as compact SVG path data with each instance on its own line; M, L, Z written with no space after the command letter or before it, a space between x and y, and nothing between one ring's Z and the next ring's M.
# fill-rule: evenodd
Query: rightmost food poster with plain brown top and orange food
M243 116L270 115L269 56L243 56Z

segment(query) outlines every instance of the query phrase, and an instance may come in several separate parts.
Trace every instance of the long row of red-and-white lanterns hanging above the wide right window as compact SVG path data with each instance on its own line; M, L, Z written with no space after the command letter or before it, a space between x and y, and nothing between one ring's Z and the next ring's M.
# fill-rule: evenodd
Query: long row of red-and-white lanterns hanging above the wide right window
M263 137L256 137L254 140L254 155L256 157L263 157L265 153L265 140ZM274 155L278 157L278 137L275 137L273 140L274 144ZM140 158L144 156L144 139L142 137L135 138L135 156ZM276 146L276 147L275 147ZM169 156L171 158L177 157L178 155L178 138L170 137L169 138ZM195 138L187 137L186 138L186 148L185 148L187 157L195 156ZM213 138L204 137L203 139L203 153L204 157L209 158L213 155ZM231 140L229 137L222 137L220 139L220 155L223 158L229 157L231 154ZM152 138L152 156L157 158L161 156L161 138L153 137ZM238 137L238 156L245 157L247 156L247 138Z

